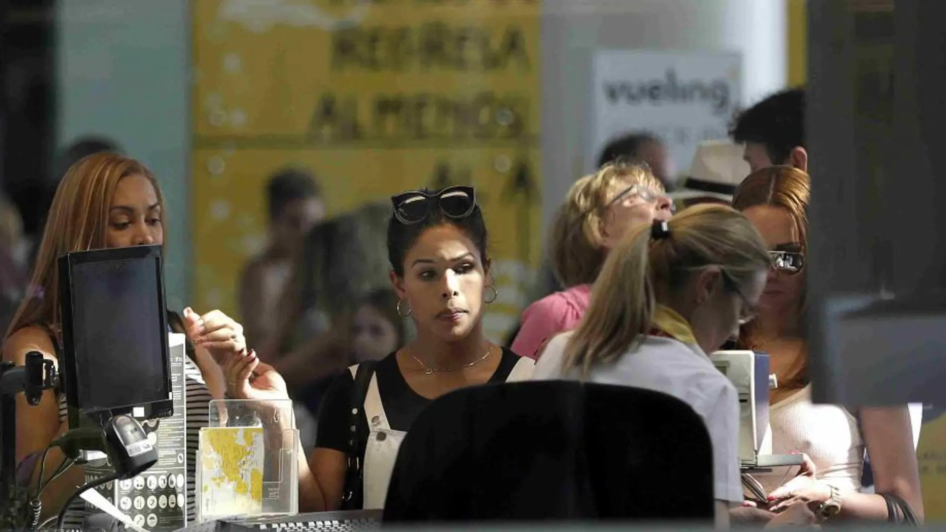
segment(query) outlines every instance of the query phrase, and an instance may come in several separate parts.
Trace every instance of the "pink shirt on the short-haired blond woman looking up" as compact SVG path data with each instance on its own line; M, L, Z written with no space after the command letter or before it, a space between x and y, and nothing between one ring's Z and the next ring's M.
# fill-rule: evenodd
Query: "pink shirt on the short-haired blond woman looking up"
M537 359L547 339L575 328L585 316L589 300L591 285L579 284L535 301L522 313L522 325L511 349L519 356Z

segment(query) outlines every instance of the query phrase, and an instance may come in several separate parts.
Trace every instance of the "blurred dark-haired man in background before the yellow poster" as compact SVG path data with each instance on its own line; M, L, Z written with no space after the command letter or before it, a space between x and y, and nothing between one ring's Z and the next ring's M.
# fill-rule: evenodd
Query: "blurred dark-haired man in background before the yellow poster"
M269 242L243 269L239 312L247 342L263 345L276 334L277 306L292 278L306 233L325 215L322 189L304 168L278 170L266 185Z

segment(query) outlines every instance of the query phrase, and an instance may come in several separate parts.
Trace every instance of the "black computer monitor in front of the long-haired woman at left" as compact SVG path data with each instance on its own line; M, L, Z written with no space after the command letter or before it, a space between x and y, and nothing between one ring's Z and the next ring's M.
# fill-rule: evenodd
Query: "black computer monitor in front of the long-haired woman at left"
M161 247L79 251L59 261L69 426L172 415Z

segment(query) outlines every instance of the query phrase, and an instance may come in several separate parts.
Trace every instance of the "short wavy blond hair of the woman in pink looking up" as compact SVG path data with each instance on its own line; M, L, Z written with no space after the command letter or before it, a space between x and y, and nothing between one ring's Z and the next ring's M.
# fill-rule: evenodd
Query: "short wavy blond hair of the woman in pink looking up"
M602 229L607 207L622 186L643 185L665 192L646 164L607 163L569 188L551 233L552 269L566 287L594 283L604 265Z

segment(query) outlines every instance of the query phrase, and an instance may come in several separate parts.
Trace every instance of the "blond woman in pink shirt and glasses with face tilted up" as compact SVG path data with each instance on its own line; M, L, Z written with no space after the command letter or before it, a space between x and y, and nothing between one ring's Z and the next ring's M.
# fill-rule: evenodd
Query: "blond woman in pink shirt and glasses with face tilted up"
M607 163L571 185L552 227L552 267L566 290L529 305L512 350L535 358L542 343L585 315L591 283L608 251L631 227L667 220L673 202L643 164Z

